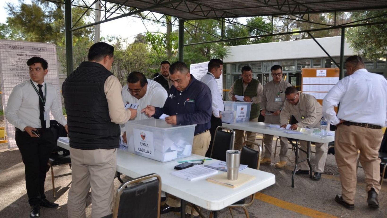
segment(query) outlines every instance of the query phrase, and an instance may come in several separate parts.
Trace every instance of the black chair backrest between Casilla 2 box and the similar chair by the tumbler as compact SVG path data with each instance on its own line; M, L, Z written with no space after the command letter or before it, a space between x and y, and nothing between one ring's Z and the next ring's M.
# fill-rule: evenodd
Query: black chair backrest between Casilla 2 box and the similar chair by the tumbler
M233 129L218 126L215 130L214 141L212 141L210 158L226 161L226 151L234 149L234 139Z

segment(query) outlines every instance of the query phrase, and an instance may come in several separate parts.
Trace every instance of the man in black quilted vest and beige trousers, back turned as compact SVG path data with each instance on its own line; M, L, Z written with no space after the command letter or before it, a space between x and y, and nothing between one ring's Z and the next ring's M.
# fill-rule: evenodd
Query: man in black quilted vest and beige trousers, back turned
M91 188L91 217L109 215L113 201L116 152L120 126L137 111L125 110L121 84L110 72L114 47L103 42L89 49L87 59L63 82L72 184L68 192L69 218L86 217L86 196Z

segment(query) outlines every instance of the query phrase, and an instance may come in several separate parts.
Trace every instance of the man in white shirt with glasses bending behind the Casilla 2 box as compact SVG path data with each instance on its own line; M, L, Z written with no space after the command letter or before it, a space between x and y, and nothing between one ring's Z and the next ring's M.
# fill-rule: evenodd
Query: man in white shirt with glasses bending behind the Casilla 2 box
M137 108L146 108L147 105L163 107L168 95L158 82L146 79L144 74L133 71L128 75L128 84L122 88L122 101L125 104L139 104ZM136 109L137 109L136 108ZM137 113L133 120L149 119L145 113ZM153 119L153 118L152 118ZM123 126L122 126L123 127ZM126 142L126 132L122 135Z

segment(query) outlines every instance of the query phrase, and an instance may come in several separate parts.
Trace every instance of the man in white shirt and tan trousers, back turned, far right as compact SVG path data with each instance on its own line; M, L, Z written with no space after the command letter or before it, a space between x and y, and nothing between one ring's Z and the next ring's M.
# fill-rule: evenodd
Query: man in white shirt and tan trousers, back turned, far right
M380 159L382 127L387 125L387 81L378 74L368 72L361 57L354 55L345 61L348 76L330 89L323 101L323 114L337 126L335 157L339 167L342 195L336 202L354 209L356 192L356 159L366 175L367 203L378 208L380 191ZM336 115L334 106L340 103Z

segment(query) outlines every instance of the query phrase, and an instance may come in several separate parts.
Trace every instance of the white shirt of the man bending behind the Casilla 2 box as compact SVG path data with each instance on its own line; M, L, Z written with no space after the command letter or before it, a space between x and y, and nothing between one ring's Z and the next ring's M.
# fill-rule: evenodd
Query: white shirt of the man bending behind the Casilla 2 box
M122 101L124 104L139 104L137 107L137 115L133 120L144 120L149 119L145 113L140 113L143 108L146 108L147 105L152 105L155 107L162 108L164 106L165 100L168 98L167 91L161 86L158 82L151 79L147 79L148 85L145 95L137 99L128 92L128 85L125 85L122 88Z

